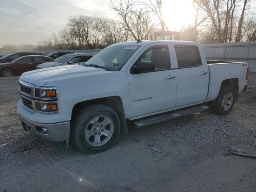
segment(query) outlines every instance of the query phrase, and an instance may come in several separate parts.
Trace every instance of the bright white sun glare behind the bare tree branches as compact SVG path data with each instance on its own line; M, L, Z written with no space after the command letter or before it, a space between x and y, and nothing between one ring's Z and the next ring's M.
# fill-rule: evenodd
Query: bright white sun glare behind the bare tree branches
M194 20L196 11L191 0L165 0L163 16L169 30L179 31Z

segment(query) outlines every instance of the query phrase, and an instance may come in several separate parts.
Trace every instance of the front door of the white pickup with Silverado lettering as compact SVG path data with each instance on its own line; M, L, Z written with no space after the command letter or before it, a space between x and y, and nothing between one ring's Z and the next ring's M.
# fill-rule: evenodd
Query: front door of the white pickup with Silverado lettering
M154 71L132 74L130 68L133 65L128 68L131 119L174 108L177 78L169 50L168 45L158 43L141 51L133 65L151 61L155 65Z

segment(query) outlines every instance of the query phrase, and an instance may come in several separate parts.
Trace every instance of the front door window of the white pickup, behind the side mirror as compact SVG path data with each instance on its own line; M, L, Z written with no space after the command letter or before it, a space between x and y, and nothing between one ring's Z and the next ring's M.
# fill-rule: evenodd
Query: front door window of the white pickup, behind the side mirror
M167 45L152 46L140 56L138 62L140 61L154 62L155 71L171 68L170 53Z

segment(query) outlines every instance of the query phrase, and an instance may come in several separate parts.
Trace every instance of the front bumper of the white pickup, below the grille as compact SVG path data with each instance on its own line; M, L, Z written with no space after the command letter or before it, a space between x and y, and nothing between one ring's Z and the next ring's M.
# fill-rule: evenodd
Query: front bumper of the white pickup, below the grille
M26 131L29 131L32 134L37 135L43 140L48 141L64 141L68 140L70 133L70 121L59 122L59 123L51 123L51 124L42 124L36 123L24 118L19 114L20 121L22 123L23 128ZM47 128L48 134L42 134L37 131L38 128Z

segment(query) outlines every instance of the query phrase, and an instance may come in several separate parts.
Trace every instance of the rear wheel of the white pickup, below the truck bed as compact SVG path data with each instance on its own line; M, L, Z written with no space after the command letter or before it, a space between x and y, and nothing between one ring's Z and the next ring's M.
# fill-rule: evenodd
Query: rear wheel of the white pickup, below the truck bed
M230 113L235 102L235 91L230 86L221 86L219 95L214 103L213 110L219 115Z

